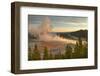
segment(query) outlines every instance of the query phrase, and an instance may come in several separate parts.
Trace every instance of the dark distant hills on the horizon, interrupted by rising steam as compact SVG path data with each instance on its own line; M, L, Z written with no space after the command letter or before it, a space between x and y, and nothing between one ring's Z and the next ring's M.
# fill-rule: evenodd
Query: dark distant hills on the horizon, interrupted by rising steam
M88 30L78 30L74 32L51 32L51 34L56 34L60 37L77 40L78 38L88 39ZM38 39L38 36L35 34L28 33L28 38L30 39Z

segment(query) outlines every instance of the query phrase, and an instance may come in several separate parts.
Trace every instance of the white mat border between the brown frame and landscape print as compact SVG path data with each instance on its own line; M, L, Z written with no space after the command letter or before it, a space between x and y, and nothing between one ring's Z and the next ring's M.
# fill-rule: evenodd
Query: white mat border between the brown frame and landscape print
M88 17L88 59L28 61L28 14ZM43 69L94 65L94 11L40 7L20 8L20 69Z

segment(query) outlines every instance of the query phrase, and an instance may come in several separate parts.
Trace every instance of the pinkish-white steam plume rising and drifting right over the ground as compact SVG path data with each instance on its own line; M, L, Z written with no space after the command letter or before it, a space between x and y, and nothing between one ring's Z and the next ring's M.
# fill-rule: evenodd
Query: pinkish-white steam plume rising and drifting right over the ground
M76 40L62 38L56 34L51 34L52 28L50 26L50 19L45 17L44 21L39 27L33 27L29 25L29 32L33 35L38 35L40 41L60 41L64 43L72 43L75 44Z

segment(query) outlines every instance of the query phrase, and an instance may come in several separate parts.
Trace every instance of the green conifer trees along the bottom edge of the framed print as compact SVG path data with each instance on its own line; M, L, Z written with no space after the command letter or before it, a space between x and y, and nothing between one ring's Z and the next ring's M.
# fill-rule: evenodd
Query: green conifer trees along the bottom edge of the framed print
M74 47L70 45L65 46L65 54L48 53L48 48L44 47L43 55L40 55L37 45L34 49L29 48L28 60L51 60L51 59L75 59L75 58L87 58L88 57L88 45L82 44L82 39L79 38ZM32 52L33 51L33 52Z

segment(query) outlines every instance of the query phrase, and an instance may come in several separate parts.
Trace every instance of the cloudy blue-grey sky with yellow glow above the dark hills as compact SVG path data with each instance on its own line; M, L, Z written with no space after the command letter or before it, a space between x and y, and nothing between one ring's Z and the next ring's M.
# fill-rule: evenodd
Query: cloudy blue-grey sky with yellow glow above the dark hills
M48 17L53 32L72 32L88 29L87 17L28 15L28 25L40 26Z

